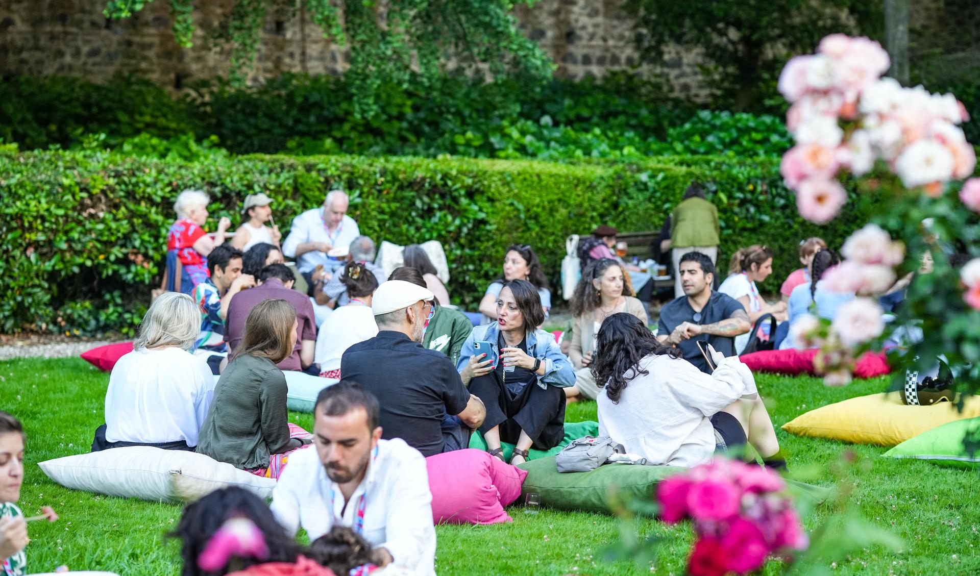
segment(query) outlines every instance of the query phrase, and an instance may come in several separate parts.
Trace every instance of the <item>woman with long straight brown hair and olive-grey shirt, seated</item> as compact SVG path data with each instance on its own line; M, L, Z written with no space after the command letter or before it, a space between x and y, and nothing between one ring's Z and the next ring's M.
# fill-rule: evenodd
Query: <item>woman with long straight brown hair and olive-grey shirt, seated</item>
M197 452L266 478L278 478L289 455L312 436L290 424L286 377L275 364L296 344L296 309L264 300L245 319L244 338L215 388Z

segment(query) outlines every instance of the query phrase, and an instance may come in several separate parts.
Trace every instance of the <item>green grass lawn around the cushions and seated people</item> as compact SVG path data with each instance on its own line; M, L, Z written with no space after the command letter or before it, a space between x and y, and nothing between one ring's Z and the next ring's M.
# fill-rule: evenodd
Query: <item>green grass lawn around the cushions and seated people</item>
M61 515L54 524L31 523L27 549L31 571L66 564L75 570L111 570L125 576L176 574L177 546L164 539L180 517L180 507L101 497L64 489L36 466L38 461L88 452L95 427L103 422L109 374L83 360L10 360L0 362L0 408L19 416L27 432L27 456L21 505L37 513L53 505ZM980 573L980 476L922 461L880 457L885 449L796 438L778 426L796 415L854 396L882 391L884 378L826 388L816 378L760 376L791 469L821 486L834 485L833 465L845 451L858 456L848 474L856 484L852 503L875 525L888 528L905 545L900 552L859 550L833 567L840 574ZM312 429L311 414L291 414ZM595 419L595 403L571 405L569 421ZM619 538L620 522L590 513L541 510L528 514L512 506L513 524L440 526L436 568L440 574L680 574L691 542L687 526L638 522L642 537L662 536L665 544L652 563L607 563L600 552ZM818 525L829 505L806 520ZM766 573L778 565L770 562Z

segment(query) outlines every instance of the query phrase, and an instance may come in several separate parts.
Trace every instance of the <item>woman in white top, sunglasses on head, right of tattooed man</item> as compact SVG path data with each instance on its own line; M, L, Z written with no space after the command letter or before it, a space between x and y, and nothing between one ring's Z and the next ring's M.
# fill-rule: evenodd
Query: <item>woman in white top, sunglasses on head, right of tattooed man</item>
M755 325L764 314L772 314L777 321L786 319L786 303L778 302L768 304L759 294L756 282L764 282L772 273L772 251L754 244L748 248L741 248L732 255L728 264L728 277L718 286L718 292L739 301L749 312L749 321ZM764 325L768 328L768 324ZM750 333L741 334L735 337L735 352L739 353L745 349L749 342Z

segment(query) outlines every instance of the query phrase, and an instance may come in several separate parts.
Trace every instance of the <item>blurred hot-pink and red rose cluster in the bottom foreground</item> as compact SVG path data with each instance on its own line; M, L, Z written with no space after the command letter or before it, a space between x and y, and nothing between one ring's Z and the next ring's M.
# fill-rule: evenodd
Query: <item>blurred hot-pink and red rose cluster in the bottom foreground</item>
M809 539L785 488L768 468L727 459L663 480L657 492L662 519L694 521L688 573L748 574L771 554L806 550Z

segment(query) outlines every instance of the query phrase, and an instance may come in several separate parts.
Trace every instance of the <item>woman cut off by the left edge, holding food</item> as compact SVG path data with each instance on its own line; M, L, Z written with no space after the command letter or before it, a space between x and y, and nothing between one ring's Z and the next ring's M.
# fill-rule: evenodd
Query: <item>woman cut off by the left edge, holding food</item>
M24 483L24 426L21 421L0 410L0 571L4 576L24 576L27 555L24 549L27 522L17 506Z

